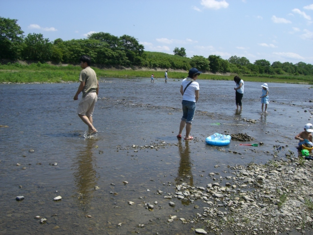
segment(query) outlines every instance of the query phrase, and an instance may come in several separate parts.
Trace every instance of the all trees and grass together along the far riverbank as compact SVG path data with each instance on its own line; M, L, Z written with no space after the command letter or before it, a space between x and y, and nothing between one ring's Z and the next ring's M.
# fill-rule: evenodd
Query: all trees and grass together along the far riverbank
M234 74L239 74L246 81L313 84L313 65L304 62L276 61L270 64L261 59L250 63L246 57L236 55L228 59L218 55L188 58L183 47L176 47L174 55L150 52L132 36L118 37L105 32L93 33L87 39L64 41L59 38L50 42L42 34L23 35L17 21L0 17L0 82L75 81L80 71L75 65L81 55L87 54L93 67L97 68L98 76L150 77L155 73L156 77L163 78L165 69L168 69L170 78L181 79L195 67L206 72L200 79L232 80ZM26 61L26 65L19 60ZM62 66L64 64L67 66ZM146 68L146 71L140 68ZM220 73L232 75L218 75Z

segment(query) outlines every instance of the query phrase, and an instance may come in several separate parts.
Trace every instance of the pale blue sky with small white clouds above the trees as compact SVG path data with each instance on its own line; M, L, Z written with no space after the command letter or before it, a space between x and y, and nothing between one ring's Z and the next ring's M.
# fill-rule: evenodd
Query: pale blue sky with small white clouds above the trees
M106 32L189 58L313 64L313 0L0 0L0 17L50 41Z

